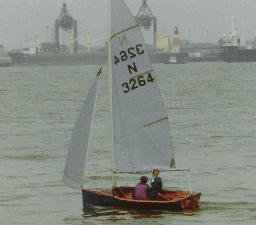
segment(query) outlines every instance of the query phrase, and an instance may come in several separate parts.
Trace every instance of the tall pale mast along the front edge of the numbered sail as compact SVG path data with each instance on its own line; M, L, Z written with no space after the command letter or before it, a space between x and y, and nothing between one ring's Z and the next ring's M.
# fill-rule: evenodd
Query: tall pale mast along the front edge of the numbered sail
M116 186L115 162L114 162L114 139L113 139L113 118L112 118L112 75L111 75L111 0L108 0L108 106L109 106L109 128L110 128L110 148L113 187Z

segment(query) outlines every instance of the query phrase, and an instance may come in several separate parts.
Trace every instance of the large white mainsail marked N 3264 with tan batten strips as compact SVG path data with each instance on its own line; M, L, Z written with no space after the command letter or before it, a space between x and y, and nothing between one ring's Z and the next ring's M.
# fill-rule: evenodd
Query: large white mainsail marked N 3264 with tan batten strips
M123 0L111 0L110 14L115 169L175 168L168 118L140 27Z

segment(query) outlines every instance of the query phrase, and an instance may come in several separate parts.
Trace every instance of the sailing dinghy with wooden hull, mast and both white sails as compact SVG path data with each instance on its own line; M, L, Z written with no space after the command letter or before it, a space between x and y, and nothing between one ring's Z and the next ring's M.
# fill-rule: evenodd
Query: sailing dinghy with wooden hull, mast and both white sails
M84 188L83 175L100 79L95 77L71 136L63 181L82 189L88 206L182 210L198 207L201 196L162 189L161 200L133 200L132 187L117 186L115 174L148 174L175 169L170 130L156 75L132 13L123 0L109 0L109 112L113 186ZM102 171L104 172L104 171ZM136 181L134 181L134 184Z

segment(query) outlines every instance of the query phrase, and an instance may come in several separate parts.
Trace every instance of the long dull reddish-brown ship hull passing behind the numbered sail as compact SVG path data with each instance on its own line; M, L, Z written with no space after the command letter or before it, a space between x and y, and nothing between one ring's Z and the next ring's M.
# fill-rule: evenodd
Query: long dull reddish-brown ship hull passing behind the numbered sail
M14 66L64 66L64 65L102 65L107 64L107 53L83 54L23 54L9 53ZM151 63L164 63L172 53L149 53ZM175 54L179 62L188 62L188 53Z

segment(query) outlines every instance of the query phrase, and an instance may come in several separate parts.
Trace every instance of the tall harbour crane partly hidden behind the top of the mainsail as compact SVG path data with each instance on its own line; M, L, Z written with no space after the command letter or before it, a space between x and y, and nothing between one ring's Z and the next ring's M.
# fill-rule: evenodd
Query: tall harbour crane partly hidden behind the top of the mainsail
M154 47L156 48L156 17L154 17L151 10L149 9L147 0L142 0L142 5L135 17L135 20L138 24L143 26L145 30L150 29L150 26L152 25L151 21L153 21Z

